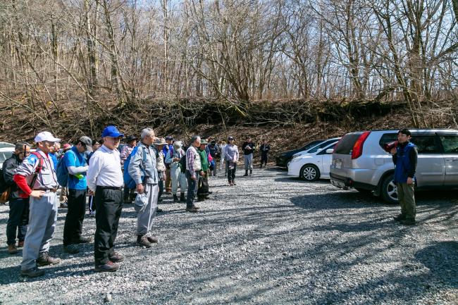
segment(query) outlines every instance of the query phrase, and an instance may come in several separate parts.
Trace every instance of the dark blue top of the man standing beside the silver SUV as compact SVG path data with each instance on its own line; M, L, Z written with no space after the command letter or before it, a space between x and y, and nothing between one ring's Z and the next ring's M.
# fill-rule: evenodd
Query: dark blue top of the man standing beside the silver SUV
M406 183L407 178L415 178L416 156L416 146L411 142L397 146L392 158L395 163L395 183Z

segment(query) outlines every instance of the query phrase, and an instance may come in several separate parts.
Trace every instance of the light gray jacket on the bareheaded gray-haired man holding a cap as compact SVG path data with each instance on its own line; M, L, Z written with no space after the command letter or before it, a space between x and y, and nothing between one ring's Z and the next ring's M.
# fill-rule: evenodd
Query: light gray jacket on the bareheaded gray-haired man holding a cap
M142 181L142 171L145 178L149 178L149 184L156 185L158 183L158 174L156 168L156 151L153 147L147 147L140 142L137 144L137 152L130 157L129 175L135 181L135 184L140 185Z

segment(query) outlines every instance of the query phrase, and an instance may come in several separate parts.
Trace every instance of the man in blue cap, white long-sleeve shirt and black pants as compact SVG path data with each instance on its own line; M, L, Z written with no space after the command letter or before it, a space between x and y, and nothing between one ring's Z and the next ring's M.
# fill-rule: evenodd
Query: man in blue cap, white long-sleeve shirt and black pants
M113 244L123 208L124 185L118 146L124 137L115 126L108 126L101 134L104 144L91 156L87 170L87 187L94 193L95 215L94 261L96 272L118 270L124 257L116 253Z

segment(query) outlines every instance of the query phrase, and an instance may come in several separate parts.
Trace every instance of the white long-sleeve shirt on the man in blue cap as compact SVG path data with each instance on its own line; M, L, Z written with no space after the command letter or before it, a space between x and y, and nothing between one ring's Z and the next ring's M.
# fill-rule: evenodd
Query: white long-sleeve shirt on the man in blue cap
M87 169L87 187L95 192L99 187L122 187L123 172L120 166L118 149L109 149L102 145L92 154Z

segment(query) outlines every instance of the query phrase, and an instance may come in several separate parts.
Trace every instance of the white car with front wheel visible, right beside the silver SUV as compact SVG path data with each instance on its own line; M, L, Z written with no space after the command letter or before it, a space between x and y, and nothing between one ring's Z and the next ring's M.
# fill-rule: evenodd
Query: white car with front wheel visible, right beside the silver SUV
M288 163L288 175L302 178L306 181L330 179L329 168L333 161L333 147L338 141L328 144L311 154L292 158Z

